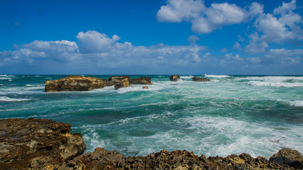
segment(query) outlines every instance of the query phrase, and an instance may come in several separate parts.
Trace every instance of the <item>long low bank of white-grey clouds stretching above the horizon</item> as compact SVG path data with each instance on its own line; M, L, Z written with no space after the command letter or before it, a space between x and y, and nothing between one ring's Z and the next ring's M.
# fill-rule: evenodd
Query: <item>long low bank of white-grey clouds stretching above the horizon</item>
M0 52L1 67L13 65L39 66L45 63L57 63L65 67L92 68L150 68L167 70L172 68L213 67L237 69L238 67L263 67L276 64L287 67L299 64L303 50L271 49L263 56L241 57L228 53L223 56L211 55L208 47L199 45L164 45L150 47L132 45L131 42L118 42L120 37L109 38L104 33L89 30L76 36L78 42L68 40L41 41L20 45L13 51ZM189 40L195 37L190 37ZM166 71L167 71L166 70ZM165 71L165 72L166 72Z

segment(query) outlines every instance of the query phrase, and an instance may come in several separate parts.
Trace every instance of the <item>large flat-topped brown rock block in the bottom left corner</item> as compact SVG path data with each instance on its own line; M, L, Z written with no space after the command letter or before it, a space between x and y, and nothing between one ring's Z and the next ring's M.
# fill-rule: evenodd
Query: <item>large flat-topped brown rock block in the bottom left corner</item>
M0 169L61 166L86 149L82 135L69 123L48 119L0 120Z

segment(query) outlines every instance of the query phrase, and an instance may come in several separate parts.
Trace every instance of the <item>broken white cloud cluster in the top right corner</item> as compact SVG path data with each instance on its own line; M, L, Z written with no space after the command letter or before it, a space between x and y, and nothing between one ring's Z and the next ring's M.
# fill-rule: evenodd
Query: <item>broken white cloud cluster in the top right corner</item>
M258 4L258 3L257 3ZM250 44L245 47L246 52L264 52L269 47L269 42L282 43L291 40L303 40L302 18L294 10L297 9L296 1L282 3L274 9L273 13L263 13L260 5L253 11L259 11L254 27L258 32L249 35ZM253 6L253 5L252 5ZM259 9L258 9L259 8ZM254 12L256 13L256 12Z

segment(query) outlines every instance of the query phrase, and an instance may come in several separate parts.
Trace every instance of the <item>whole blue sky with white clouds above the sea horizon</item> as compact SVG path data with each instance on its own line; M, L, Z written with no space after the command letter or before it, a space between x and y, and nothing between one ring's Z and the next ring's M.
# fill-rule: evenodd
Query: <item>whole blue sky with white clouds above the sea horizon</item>
M303 74L303 1L2 0L0 74Z

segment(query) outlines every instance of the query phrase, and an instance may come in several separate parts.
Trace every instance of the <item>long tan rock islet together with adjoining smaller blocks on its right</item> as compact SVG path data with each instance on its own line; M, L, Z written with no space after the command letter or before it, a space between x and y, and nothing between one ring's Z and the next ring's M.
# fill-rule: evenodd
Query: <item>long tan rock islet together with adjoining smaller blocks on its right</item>
M150 77L130 79L128 76L110 77L108 80L96 77L68 76L59 80L45 81L45 91L89 91L101 89L104 86L114 86L115 89L129 87L130 84L152 84Z

